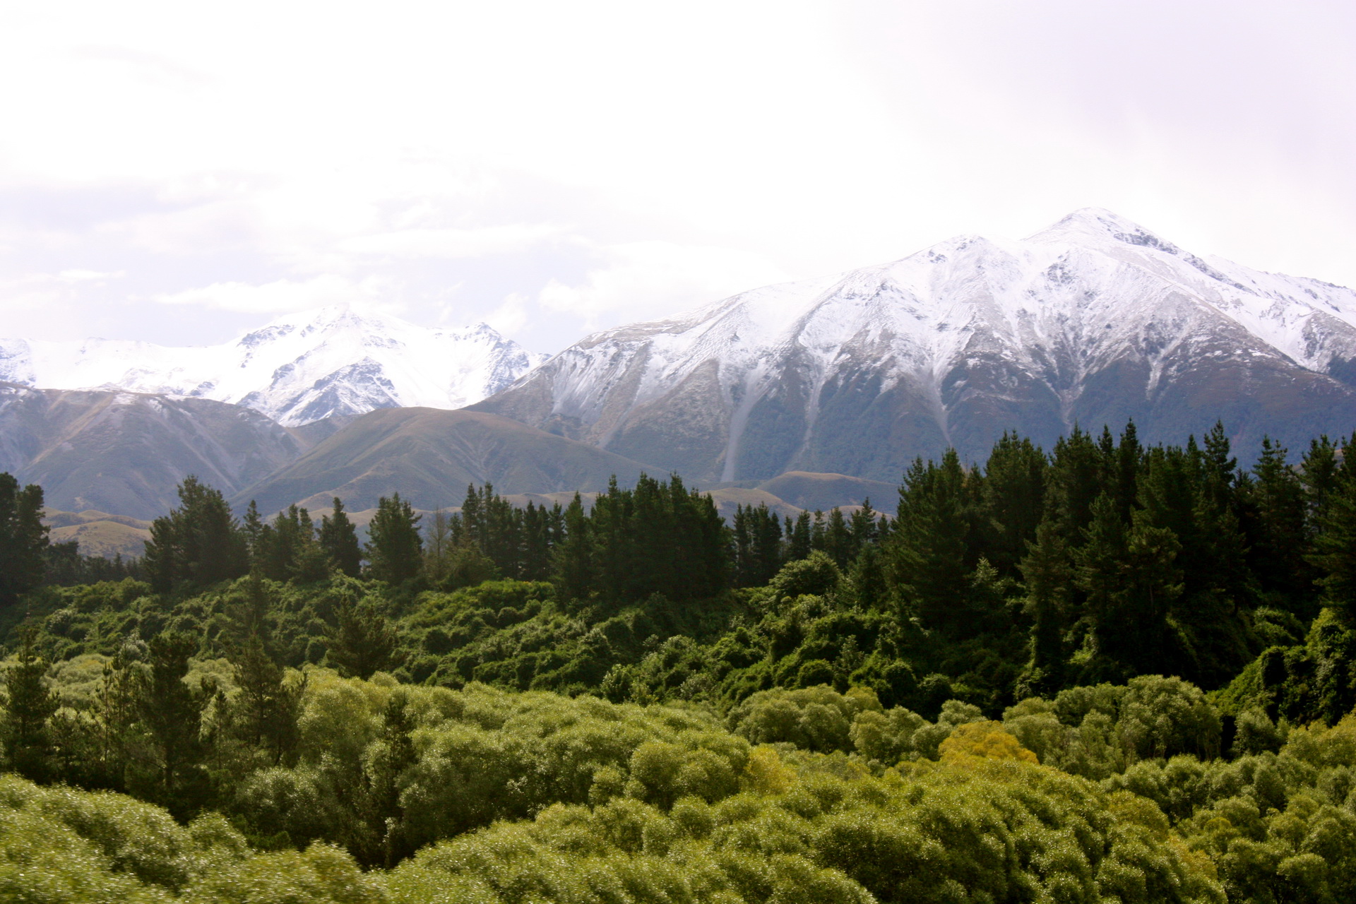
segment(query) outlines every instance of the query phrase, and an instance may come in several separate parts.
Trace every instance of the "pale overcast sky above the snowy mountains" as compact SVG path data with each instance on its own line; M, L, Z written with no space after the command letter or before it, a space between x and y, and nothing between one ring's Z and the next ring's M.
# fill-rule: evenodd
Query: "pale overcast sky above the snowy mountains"
M0 0L0 336L536 351L1108 207L1356 286L1349 0Z

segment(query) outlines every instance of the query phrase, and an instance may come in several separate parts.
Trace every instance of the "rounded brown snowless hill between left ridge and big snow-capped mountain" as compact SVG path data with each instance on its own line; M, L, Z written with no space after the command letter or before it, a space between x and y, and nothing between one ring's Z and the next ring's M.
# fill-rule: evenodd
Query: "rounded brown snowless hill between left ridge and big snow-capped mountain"
M507 417L473 411L385 408L317 443L305 455L235 497L263 512L292 503L327 508L334 496L351 510L399 492L416 508L460 506L468 484L500 493L603 489L613 474L633 484L643 470L663 474L587 443Z

